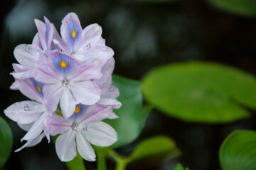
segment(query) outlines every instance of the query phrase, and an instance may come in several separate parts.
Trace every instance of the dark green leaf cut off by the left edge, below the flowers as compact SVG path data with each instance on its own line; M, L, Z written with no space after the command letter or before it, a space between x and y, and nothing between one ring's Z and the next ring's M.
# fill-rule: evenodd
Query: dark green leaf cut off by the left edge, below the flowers
M13 136L6 121L0 117L0 168L4 165L13 146Z

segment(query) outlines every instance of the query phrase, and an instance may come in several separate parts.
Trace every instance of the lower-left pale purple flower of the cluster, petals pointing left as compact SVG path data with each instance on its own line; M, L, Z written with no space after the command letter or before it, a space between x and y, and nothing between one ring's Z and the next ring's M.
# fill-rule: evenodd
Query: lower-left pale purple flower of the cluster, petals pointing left
M33 78L16 79L12 87L19 89L22 94L34 101L21 101L13 103L4 110L4 113L11 120L14 120L28 132L21 139L33 141L44 130L43 120L47 115L52 115L43 97L44 84L35 81ZM49 140L49 139L48 139Z

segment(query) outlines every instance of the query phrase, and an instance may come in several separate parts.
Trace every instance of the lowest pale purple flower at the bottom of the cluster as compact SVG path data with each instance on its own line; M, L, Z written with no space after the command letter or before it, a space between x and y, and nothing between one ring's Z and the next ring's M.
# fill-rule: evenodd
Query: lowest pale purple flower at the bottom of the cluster
M116 131L110 125L101 122L112 113L112 108L97 104L84 106L79 104L77 113L65 120L62 116L53 114L44 121L46 132L57 137L55 142L57 156L62 162L69 162L77 155L83 159L95 161L92 145L108 147L117 140Z

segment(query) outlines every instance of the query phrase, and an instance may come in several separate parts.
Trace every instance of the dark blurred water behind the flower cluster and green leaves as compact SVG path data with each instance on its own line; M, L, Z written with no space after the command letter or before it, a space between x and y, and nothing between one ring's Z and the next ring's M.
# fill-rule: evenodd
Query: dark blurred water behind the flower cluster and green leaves
M82 27L99 23L106 45L115 51L115 74L140 80L153 67L170 62L189 60L212 61L256 74L256 18L220 11L207 0L170 1L74 1L30 0L1 1L0 7L0 91L1 117L11 126L13 151L21 147L26 132L6 118L4 109L17 101L26 100L19 91L11 91L11 63L16 62L13 49L19 44L32 43L37 32L34 18L46 16L58 31L62 18L69 12L79 16ZM128 169L172 170L181 162L191 170L218 170L218 150L223 140L235 129L256 130L255 113L247 120L223 125L185 123L153 110L142 134L126 147L117 149L128 155L136 144L153 135L168 135L177 143L182 154L159 164L134 162ZM0 144L1 145L1 144ZM96 163L84 162L87 169ZM108 169L115 164L107 161ZM39 145L11 153L1 168L67 169L55 154L53 143L43 140Z

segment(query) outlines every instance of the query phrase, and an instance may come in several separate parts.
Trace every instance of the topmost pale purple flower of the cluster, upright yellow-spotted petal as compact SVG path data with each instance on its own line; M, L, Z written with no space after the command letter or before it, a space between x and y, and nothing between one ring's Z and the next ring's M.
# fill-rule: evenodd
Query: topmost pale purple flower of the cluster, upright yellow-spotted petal
M60 34L62 40L53 38L53 42L78 62L91 59L104 62L113 57L113 50L107 47L105 40L101 38L101 26L94 23L82 30L79 18L75 13L68 13L63 18Z

